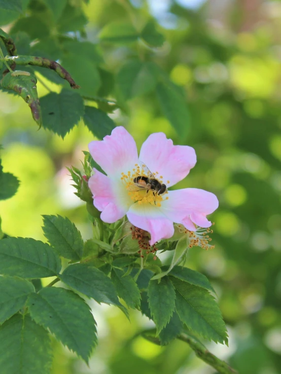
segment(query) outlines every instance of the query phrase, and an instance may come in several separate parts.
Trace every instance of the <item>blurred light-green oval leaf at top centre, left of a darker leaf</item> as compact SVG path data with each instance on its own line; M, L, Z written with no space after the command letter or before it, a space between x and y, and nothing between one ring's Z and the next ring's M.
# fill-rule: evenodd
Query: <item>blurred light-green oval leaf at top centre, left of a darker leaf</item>
M99 33L102 42L127 44L135 42L139 37L138 32L130 23L108 23Z

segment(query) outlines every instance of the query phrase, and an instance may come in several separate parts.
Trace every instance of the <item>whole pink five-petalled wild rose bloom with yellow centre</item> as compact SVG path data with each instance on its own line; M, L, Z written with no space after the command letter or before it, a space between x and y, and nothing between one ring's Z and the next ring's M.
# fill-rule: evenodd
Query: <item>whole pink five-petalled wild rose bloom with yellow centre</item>
M194 188L168 190L196 164L192 147L173 145L171 139L158 132L143 143L138 158L133 137L118 126L103 140L90 142L89 151L107 173L93 169L94 175L89 179L94 206L104 222L113 223L127 215L132 225L150 233L150 245L171 238L173 222L190 231L196 230L194 223L202 228L212 225L206 215L218 208L214 194ZM166 184L165 193L135 188L134 178L148 176L145 165L160 183Z

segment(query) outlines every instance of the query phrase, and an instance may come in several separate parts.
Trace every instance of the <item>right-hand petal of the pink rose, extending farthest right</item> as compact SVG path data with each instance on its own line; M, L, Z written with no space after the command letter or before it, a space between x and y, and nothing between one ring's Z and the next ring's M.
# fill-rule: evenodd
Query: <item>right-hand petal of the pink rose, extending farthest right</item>
M168 200L161 203L162 213L173 222L182 223L188 230L194 230L192 222L200 227L209 227L212 222L206 215L219 206L216 195L199 189L183 189L168 192Z

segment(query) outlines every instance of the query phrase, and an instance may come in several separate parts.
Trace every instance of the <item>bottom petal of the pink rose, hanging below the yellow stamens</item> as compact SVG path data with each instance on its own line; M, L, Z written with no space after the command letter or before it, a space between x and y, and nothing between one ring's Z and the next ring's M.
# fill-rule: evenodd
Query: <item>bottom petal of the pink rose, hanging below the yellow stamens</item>
M133 204L127 213L127 217L132 225L150 233L150 245L161 239L173 236L172 221L167 219L156 206L154 207L151 204Z

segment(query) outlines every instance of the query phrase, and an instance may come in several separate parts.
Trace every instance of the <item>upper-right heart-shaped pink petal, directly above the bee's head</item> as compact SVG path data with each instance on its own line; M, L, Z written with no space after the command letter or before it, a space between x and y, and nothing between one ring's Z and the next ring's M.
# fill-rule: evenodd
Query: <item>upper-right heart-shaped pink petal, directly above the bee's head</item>
M139 160L147 165L152 173L163 176L168 187L187 176L196 164L196 155L188 145L173 145L163 132L151 134L144 142Z

